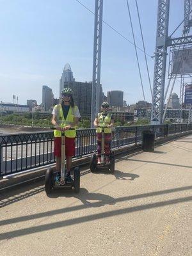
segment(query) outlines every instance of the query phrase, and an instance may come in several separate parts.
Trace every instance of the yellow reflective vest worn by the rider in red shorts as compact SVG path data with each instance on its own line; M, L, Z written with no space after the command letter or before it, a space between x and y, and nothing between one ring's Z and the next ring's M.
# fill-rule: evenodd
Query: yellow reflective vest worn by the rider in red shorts
M58 105L54 106L54 108L57 108L56 120L57 120L58 125L60 125L60 127L65 127L67 125L74 124L74 114L75 114L75 111L77 109L77 106L74 106L74 108L72 108L70 106L66 119L64 118L63 109L61 107L61 104L58 104ZM75 138L76 137L76 130L67 130L67 131L65 131L65 136L68 137L68 138ZM54 137L61 137L61 131L54 130Z

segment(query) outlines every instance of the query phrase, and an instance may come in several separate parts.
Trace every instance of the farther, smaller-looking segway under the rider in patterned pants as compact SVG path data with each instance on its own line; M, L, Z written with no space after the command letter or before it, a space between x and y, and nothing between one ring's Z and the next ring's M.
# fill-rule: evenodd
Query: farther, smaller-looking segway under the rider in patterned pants
M97 160L98 160L98 155L97 154L93 154L91 156L91 161L90 161L90 170L91 172L96 172L99 170L110 170L111 173L115 172L115 156L114 156L114 152L112 150L110 150L110 154L109 154L109 164L106 164L106 154L104 151L104 145L105 145L105 137L104 137L104 128L107 127L101 127L98 126L99 128L101 128L101 161L100 164L97 164Z

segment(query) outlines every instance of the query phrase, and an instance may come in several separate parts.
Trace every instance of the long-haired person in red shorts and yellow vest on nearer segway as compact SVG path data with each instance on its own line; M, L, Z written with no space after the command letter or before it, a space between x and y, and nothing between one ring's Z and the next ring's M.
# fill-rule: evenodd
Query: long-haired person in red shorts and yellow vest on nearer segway
M69 130L69 128L76 127L81 115L79 109L74 104L72 97L72 90L70 88L63 88L61 92L61 104L54 106L52 111L51 123L56 127L54 130L54 156L56 156L56 180L55 183L60 183L61 170L61 131L65 131L65 154L67 166L67 182L72 182L70 176L70 168L72 164L72 156L75 154L75 137L76 130Z

